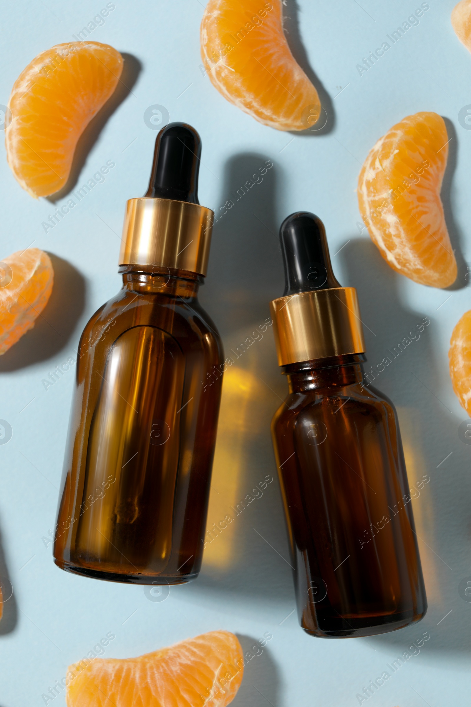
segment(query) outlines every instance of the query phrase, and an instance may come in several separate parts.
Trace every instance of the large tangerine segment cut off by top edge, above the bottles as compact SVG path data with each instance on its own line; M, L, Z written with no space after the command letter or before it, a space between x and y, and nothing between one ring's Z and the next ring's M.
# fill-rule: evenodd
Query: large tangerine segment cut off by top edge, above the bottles
M321 101L288 47L281 0L210 0L201 57L224 98L264 125L305 130L318 121Z

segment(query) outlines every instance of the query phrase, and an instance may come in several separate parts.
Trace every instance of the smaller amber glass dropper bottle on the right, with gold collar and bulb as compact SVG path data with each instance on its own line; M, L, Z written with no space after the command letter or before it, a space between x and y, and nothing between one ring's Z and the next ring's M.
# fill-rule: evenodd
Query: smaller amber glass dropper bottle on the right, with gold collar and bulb
M299 623L331 638L400 629L427 597L395 408L364 379L357 292L335 279L321 220L292 214L280 240L270 308L290 395L272 433Z

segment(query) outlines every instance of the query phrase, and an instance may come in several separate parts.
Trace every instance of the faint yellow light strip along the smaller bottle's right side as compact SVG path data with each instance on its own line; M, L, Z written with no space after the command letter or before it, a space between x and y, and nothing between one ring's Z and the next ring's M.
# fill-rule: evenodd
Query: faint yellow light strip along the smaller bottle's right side
M430 606L431 604L441 603L441 590L436 556L429 547L434 542L434 508L431 501L429 501L429 498L431 498L431 494L427 489L429 484L426 484L422 491L419 489L419 486L422 485L423 477L430 478L427 476L427 464L420 448L420 440L422 439L419 424L420 415L418 410L400 407L398 408L398 418L400 433L403 438L409 487L412 490L417 489L417 493L420 493L417 498L412 498L412 510L414 512L415 530L418 536L417 542L427 590L427 600ZM427 541L427 544L425 541Z

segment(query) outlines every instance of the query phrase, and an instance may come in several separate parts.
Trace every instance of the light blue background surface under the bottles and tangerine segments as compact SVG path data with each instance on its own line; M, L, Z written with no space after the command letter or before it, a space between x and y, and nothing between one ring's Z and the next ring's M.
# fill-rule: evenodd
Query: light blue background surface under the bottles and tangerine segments
M302 0L296 10L290 1L285 9L292 18L292 50L306 71L314 69L328 95L328 126L315 136L264 127L217 93L200 69L203 4L117 0L105 25L90 35L136 57L142 68L133 84L130 73L124 75L131 92L100 132L91 131L97 139L85 152L77 187L107 160L116 168L49 233L41 223L53 204L35 201L20 188L0 147L0 257L29 245L56 257L47 322L40 320L0 360L0 418L13 428L11 441L0 446L0 573L8 574L14 588L0 624L0 705L44 704L42 694L65 676L66 667L108 632L116 638L105 655L124 658L220 628L237 633L247 650L263 633L273 634L263 653L246 665L237 707L353 707L363 686L424 631L431 638L420 654L368 704L467 704L471 603L460 598L458 584L471 575L471 448L458 438L467 416L453 394L447 354L453 326L470 308L465 272L471 261L471 131L460 125L458 112L471 103L471 55L451 28L454 0L431 0L419 25L362 76L356 69L362 57L381 46L420 2ZM73 40L105 5L105 0L4 3L0 103L7 103L13 82L36 54ZM136 59L128 60L131 69ZM294 593L276 480L208 547L201 577L172 588L165 602L149 601L143 588L76 577L54 566L43 538L54 528L73 373L47 391L42 379L66 361L90 315L121 286L117 257L124 206L147 187L156 132L143 114L153 104L164 105L170 119L189 122L201 134L201 204L222 206L265 160L274 163L263 183L215 227L201 300L227 351L268 317L268 301L282 293L275 234L297 209L323 218L332 255L347 244L333 264L343 284L358 288L371 364L422 317L430 317L420 340L377 383L398 407L411 485L422 474L431 477L412 502L429 598L420 624L367 640L307 636L296 614L290 615ZM443 189L460 266L451 291L396 275L357 227L355 188L366 154L395 122L422 110L446 117L453 138ZM237 502L266 474L275 476L269 423L286 382L270 329L237 368L247 384L244 391L233 375L232 392L225 393L211 522L224 518L229 498ZM64 704L64 694L54 699L54 707Z

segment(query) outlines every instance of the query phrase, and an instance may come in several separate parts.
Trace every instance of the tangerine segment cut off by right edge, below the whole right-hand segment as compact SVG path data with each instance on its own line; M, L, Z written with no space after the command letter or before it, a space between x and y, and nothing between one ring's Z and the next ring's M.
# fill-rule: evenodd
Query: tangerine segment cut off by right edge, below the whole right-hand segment
M471 310L453 329L448 351L450 378L461 407L471 416Z

